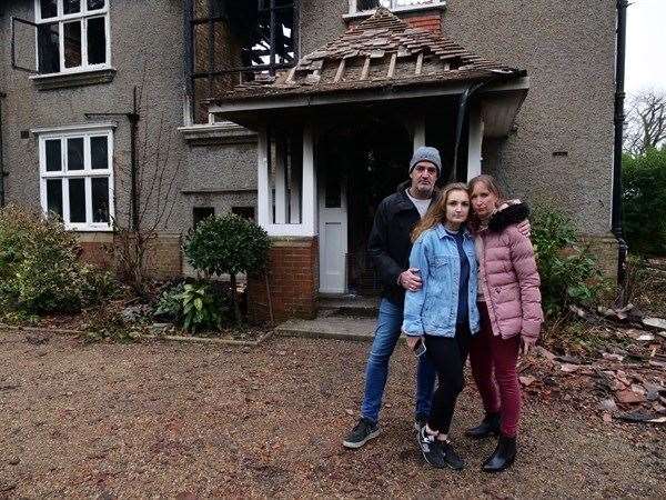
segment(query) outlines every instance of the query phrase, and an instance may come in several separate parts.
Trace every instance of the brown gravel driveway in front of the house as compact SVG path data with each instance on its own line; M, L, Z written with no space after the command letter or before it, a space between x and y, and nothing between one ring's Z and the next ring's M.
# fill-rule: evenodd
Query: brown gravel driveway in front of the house
M482 474L493 443L461 436L481 413L473 384L453 429L467 468L427 468L404 347L383 434L351 451L341 438L360 404L366 343L39 341L0 332L0 498L666 497L663 428L606 424L555 401L525 401L518 461Z

